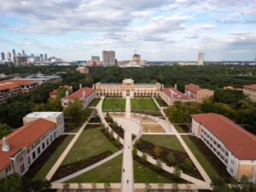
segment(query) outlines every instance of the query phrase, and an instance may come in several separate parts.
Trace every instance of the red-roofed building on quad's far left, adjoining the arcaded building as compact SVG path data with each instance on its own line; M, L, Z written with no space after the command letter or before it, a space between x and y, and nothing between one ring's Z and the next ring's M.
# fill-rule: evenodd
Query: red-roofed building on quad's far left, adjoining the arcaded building
M79 100L84 102L84 108L86 108L94 98L96 98L96 92L94 89L90 87L82 87L80 84L80 89L75 91L73 94L69 95L67 92L67 95L61 99L61 105L63 108L67 108L69 102Z

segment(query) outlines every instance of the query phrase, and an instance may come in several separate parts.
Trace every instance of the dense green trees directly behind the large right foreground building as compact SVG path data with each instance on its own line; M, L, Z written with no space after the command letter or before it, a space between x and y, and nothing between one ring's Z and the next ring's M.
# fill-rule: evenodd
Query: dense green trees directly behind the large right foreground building
M256 104L247 99L241 90L215 90L205 102L175 102L166 109L172 123L191 123L190 114L219 113L233 119L247 131L256 133Z

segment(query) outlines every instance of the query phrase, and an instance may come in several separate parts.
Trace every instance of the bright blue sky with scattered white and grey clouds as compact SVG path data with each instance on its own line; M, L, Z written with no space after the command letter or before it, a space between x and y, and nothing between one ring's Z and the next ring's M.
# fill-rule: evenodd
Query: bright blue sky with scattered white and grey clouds
M253 61L256 0L0 0L0 52L89 60Z

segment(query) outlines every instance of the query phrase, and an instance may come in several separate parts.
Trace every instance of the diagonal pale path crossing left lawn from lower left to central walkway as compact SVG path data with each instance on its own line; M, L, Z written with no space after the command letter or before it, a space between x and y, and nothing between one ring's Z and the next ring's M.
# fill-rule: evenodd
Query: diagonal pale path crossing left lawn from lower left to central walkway
M85 167L84 169L81 169L79 172L74 172L73 174L70 174L67 177L63 177L63 178L55 181L54 183L63 183L73 177L78 177L79 175L83 174L84 172L89 172L90 170L96 168L97 166L101 166L102 164L108 162L109 160L112 160L113 158L117 157L119 154L122 154L122 153L123 153L123 150L119 150L118 152L108 156L107 158L100 160L91 166Z

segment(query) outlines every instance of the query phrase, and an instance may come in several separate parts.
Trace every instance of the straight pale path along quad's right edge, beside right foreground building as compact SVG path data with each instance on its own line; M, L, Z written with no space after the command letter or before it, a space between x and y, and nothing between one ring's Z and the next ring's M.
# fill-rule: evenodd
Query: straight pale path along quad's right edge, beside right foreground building
M197 170L201 173L201 176L205 179L205 184L203 186L205 186L206 188L209 188L210 183L211 183L211 179L210 177L207 175L207 172L203 169L203 167L201 166L201 164L198 162L198 160L196 160L195 155L192 154L192 152L190 151L190 148L188 147L188 145L183 141L183 138L180 136L180 134L177 132L177 130L175 129L175 127L170 123L169 119L166 117L166 113L164 113L163 108L160 108L160 105L155 101L154 97L152 97L154 102L156 103L157 107L160 109L160 112L163 114L163 116L165 117L166 121L169 122L170 126L172 127L172 131L176 134L178 141L182 144L183 148L185 149L185 151L187 152L187 154L189 155L189 158L193 161L194 165L196 166ZM201 185L201 183L198 183L199 185Z

